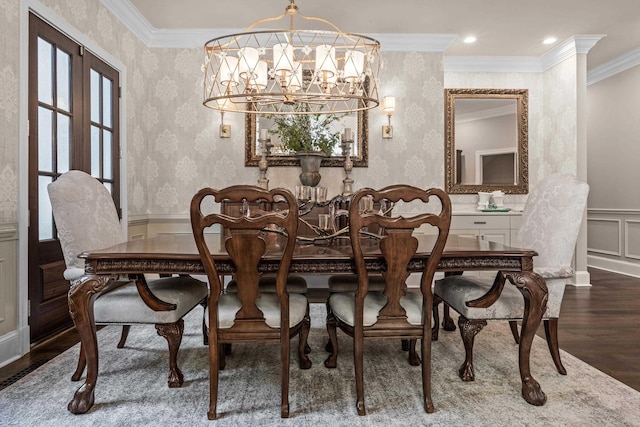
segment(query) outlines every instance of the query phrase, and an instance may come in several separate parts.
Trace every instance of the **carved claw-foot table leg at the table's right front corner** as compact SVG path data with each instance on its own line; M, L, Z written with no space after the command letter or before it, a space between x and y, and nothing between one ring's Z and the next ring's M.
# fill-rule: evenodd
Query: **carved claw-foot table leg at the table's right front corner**
M524 297L524 316L518 349L522 397L532 405L541 406L547 401L547 396L531 376L529 358L533 338L547 308L547 284L540 275L532 271L504 272L504 275Z

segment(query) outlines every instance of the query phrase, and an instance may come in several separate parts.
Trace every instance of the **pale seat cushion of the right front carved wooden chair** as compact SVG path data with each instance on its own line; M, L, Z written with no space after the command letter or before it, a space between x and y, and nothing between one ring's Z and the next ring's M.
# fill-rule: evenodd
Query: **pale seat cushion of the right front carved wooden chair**
M387 304L387 297L380 292L369 292L364 297L363 324L372 326L378 320L378 313ZM422 294L407 292L400 298L400 305L407 313L407 321L412 325L422 325ZM329 297L329 307L342 323L354 325L355 292L337 292Z

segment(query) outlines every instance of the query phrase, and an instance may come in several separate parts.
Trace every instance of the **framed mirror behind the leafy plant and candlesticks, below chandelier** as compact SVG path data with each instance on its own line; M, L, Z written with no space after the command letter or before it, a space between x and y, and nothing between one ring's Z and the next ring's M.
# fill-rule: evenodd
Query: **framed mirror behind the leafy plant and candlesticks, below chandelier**
M359 111L345 115L339 122L332 124L334 131L341 134L344 129L351 129L353 135L353 144L351 146L351 160L353 166L366 167L368 164L368 144L367 138L369 134L368 112ZM260 151L261 129L275 129L273 120L264 115L245 114L245 166L258 166L258 161L262 155ZM269 167L272 166L300 166L300 161L295 155L287 154L280 149L280 141L277 135L270 135L271 148L267 160ZM336 146L333 154L322 160L322 166L340 166L344 165L344 154L340 144Z

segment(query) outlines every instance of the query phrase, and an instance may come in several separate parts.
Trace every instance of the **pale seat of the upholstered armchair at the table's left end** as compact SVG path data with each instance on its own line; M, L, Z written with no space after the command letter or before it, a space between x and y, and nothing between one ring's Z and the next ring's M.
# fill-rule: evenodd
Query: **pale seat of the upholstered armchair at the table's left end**
M149 289L162 301L176 304L175 310L153 311L129 282L96 298L93 311L98 324L175 323L209 293L207 284L192 277L150 280Z

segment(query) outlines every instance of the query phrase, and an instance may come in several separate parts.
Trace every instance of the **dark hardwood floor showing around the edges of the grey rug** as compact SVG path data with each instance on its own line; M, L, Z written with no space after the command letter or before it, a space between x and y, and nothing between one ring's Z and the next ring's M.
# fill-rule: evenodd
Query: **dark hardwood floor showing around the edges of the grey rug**
M640 391L640 278L589 271L593 286L568 286L565 291L558 327L560 348ZM309 299L323 302L326 291L311 290ZM542 327L538 335L544 337ZM78 340L71 329L0 368L0 390ZM69 375L74 368L69 367Z

